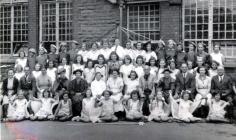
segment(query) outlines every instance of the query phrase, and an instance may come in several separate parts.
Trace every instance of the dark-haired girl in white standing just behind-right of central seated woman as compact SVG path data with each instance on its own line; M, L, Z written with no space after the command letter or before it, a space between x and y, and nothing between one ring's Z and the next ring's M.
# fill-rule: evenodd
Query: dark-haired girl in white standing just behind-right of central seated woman
M124 80L124 84L127 84L128 76L130 72L134 69L134 66L132 65L132 59L129 55L126 55L124 57L124 64L120 67L120 73L121 77Z

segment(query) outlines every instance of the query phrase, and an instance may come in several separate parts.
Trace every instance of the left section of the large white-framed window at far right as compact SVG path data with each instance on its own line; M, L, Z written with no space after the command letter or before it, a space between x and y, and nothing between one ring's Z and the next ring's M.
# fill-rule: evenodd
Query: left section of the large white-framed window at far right
M184 0L184 43L208 44L209 24L208 0ZM207 50L206 50L207 51Z

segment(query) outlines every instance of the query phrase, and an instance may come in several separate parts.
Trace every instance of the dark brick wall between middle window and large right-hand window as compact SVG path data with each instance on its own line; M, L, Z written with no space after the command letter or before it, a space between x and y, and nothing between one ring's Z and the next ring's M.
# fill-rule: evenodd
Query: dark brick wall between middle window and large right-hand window
M160 3L161 37L166 41L181 40L181 5L170 5L169 2Z

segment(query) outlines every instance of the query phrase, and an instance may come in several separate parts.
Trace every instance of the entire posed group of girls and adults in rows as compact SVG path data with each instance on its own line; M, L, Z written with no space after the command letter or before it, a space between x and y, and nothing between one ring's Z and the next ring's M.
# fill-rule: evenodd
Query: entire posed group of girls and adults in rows
M219 44L115 41L19 52L2 83L2 121L229 122L236 87Z

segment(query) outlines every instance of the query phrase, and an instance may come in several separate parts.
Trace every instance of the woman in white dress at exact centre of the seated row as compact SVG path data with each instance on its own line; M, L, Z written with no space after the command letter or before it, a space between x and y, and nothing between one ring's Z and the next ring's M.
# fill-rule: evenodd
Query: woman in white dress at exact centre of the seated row
M107 80L107 90L110 90L113 92L111 95L111 99L113 99L116 103L114 104L114 111L115 113L120 113L124 111L123 105L122 105L122 90L124 87L124 83L121 77L119 77L119 71L114 69L112 71L112 76L109 77ZM121 117L121 116L119 116ZM118 118L119 118L118 117Z

